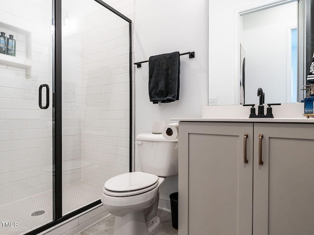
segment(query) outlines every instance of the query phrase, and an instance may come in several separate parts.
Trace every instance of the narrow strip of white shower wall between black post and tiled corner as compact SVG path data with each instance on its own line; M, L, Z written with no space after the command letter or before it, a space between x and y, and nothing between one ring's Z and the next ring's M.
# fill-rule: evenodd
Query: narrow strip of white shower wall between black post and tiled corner
M62 185L82 180L81 0L62 1Z

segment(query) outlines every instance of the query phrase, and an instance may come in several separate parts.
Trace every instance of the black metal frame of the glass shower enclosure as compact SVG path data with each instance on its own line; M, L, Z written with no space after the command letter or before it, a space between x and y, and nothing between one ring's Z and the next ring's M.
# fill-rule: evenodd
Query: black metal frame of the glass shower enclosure
M61 1L52 0L52 25L54 34L52 36L52 203L53 220L39 228L24 235L37 235L53 226L87 211L99 204L101 200L90 203L76 211L62 215L62 13ZM106 9L116 14L129 23L129 83L130 83L130 123L129 123L129 171L132 171L132 50L131 50L131 23L132 21L106 4L102 0L94 0Z

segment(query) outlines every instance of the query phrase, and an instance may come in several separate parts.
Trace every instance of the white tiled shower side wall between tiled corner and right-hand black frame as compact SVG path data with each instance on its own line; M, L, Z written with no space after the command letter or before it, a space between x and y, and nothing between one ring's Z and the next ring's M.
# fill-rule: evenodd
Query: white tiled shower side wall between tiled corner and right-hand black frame
M129 24L103 8L83 17L83 180L129 172Z

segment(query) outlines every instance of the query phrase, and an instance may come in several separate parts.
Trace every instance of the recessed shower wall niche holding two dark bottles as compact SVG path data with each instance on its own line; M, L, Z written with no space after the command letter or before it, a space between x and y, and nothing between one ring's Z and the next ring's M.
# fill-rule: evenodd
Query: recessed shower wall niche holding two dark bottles
M16 40L16 54L10 57L31 60L31 32L3 22L0 22L0 32L4 32L7 38L11 34Z

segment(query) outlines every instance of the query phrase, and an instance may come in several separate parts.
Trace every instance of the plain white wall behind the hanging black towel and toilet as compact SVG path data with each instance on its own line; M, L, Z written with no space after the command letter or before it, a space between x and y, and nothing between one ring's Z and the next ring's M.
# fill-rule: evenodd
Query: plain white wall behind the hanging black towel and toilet
M136 0L135 61L173 51L195 51L195 58L181 56L180 100L153 104L148 95L148 63L135 68L135 135L151 132L153 120L201 117L208 103L208 1ZM140 162L135 147L135 170ZM159 206L170 209L169 194L178 190L178 177L166 178L160 187Z

